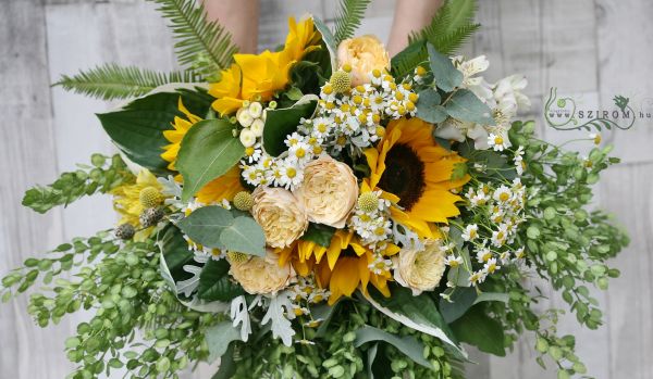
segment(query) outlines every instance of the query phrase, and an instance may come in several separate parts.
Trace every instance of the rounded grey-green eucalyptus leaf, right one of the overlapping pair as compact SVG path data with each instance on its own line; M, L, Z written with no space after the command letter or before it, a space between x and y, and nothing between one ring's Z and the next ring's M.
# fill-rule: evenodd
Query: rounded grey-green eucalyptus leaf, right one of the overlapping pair
M264 256L266 235L251 217L237 217L220 233L220 242L229 251Z

